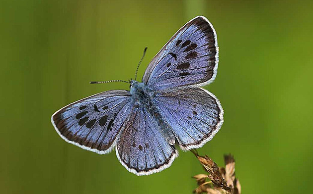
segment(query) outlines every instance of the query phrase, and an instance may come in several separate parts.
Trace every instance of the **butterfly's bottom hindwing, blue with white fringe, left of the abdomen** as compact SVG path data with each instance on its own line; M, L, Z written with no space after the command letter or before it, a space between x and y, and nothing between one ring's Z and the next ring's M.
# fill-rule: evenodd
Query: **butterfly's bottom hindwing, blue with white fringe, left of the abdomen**
M169 167L178 152L165 141L148 112L138 108L121 134L116 155L128 171L149 175Z

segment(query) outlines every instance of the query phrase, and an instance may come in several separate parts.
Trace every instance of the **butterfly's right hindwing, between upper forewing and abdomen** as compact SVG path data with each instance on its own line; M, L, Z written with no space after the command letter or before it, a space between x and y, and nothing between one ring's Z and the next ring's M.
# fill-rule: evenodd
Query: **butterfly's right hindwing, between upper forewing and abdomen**
M223 124L224 112L219 100L204 89L162 91L156 100L183 150L202 147Z

